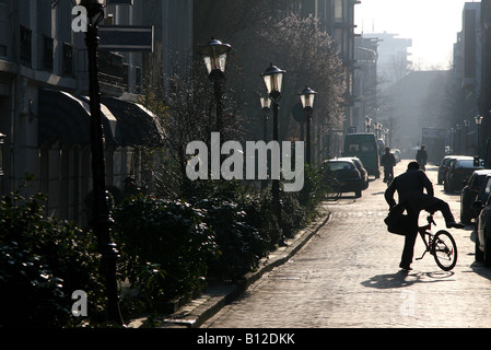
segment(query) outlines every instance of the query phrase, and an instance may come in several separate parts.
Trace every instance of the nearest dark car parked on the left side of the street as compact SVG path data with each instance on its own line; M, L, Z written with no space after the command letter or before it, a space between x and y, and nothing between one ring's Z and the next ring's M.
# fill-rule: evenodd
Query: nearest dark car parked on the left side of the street
M358 198L362 196L363 178L351 160L328 160L323 164L323 170L326 171L326 175L338 179L342 192L354 192Z

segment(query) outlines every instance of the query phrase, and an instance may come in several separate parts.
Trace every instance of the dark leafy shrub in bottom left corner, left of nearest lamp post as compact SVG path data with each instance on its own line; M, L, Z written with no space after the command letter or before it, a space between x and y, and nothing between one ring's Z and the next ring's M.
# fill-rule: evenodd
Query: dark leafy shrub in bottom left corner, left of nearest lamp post
M70 327L71 294L89 294L89 316L104 303L91 233L44 215L42 195L0 201L0 327Z

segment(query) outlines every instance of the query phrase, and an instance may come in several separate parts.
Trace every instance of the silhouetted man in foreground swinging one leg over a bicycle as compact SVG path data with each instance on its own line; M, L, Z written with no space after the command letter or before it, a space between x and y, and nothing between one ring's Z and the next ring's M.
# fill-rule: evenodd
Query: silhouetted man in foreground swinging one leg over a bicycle
M426 192L423 191L424 189ZM440 210L448 229L463 229L465 225L455 222L447 202L433 196L433 184L426 174L420 171L418 162L410 162L407 172L394 178L390 186L387 187L385 200L390 208L396 206L396 201L394 200L394 194L396 191L399 196L399 203L404 205L410 220L409 233L405 238L399 267L405 270L411 270L410 265L418 236L418 218L421 210L429 212Z

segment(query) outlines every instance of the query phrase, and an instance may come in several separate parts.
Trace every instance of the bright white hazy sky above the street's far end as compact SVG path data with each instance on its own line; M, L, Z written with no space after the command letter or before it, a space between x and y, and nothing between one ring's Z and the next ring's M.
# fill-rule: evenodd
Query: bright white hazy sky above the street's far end
M449 68L461 31L465 0L361 0L354 7L355 33L387 32L412 38L411 60L422 69Z

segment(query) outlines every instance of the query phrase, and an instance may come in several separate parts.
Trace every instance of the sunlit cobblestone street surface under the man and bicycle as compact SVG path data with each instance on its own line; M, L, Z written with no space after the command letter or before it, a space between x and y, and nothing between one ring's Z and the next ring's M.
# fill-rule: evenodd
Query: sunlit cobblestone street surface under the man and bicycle
M396 176L407 163L397 165ZM445 195L436 185L436 166L426 174L435 196L448 201L459 220L458 194ZM491 327L491 270L475 262L472 225L448 230L458 247L452 271L442 271L426 254L402 272L404 237L388 233L383 221L385 188L372 178L362 198L344 194L327 203L329 222L301 252L202 327ZM445 229L441 213L435 221L434 230ZM414 258L422 253L418 238Z

